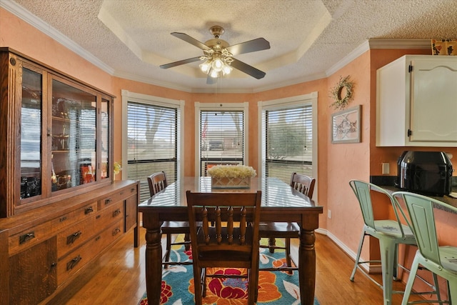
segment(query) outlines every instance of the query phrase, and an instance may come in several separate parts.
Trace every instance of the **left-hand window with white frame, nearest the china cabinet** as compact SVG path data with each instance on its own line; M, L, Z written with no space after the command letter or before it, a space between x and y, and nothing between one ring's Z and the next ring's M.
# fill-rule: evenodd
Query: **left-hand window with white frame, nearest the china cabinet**
M149 198L149 175L165 171L169 184L179 177L181 103L141 94L124 96L126 92L123 178L140 181L140 201L144 201Z

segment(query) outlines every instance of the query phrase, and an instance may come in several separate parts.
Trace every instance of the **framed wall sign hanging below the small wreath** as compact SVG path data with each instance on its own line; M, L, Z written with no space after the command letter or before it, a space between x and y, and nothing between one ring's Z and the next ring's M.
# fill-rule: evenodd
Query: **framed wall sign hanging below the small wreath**
M361 105L331 115L331 142L358 143L361 141Z

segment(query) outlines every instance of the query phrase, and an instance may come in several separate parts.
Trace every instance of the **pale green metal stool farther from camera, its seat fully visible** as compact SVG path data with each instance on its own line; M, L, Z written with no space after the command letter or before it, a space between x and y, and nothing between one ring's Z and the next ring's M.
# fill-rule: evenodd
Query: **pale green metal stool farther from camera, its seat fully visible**
M396 200L393 199L393 196L391 196L388 191L379 186L376 186L375 184L360 180L351 180L349 181L349 185L351 186L354 194L356 194L364 222L361 239L358 244L356 261L351 274L351 281L354 281L354 276L356 275L357 269L360 270L368 277L368 279L371 279L373 283L375 283L383 290L384 305L390 305L392 304L392 294L403 294L403 291L393 291L393 279L397 278L399 268L408 271L405 266L398 263L398 245L406 244L416 246L416 238L413 234L413 231L411 231L411 228L408 225L402 223L402 220L403 222L406 221L406 215L400 206L396 204ZM371 198L373 191L387 197L393 208L393 213L395 214L396 218L395 220L375 219L373 213L375 206L373 205ZM360 260L363 241L366 236L373 236L374 238L378 239L379 248L381 251L381 260ZM382 285L361 268L361 265L371 263L381 263ZM433 276L433 280L435 285L438 285L436 276ZM436 291L438 291L436 286L429 284L425 280L423 281L432 289L434 289L434 291L417 292L416 294L434 294Z

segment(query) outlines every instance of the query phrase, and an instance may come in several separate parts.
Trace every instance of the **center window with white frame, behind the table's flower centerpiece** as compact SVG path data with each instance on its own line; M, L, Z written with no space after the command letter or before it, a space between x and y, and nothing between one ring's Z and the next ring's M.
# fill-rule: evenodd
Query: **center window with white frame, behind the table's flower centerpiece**
M201 104L196 103L198 116L199 168L196 173L206 176L206 171L217 164L245 164L247 103Z

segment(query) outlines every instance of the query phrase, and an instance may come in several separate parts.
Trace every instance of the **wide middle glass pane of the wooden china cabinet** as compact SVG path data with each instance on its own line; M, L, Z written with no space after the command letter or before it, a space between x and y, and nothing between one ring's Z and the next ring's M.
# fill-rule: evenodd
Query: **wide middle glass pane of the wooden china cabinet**
M96 96L56 79L52 92L51 189L94 182Z

